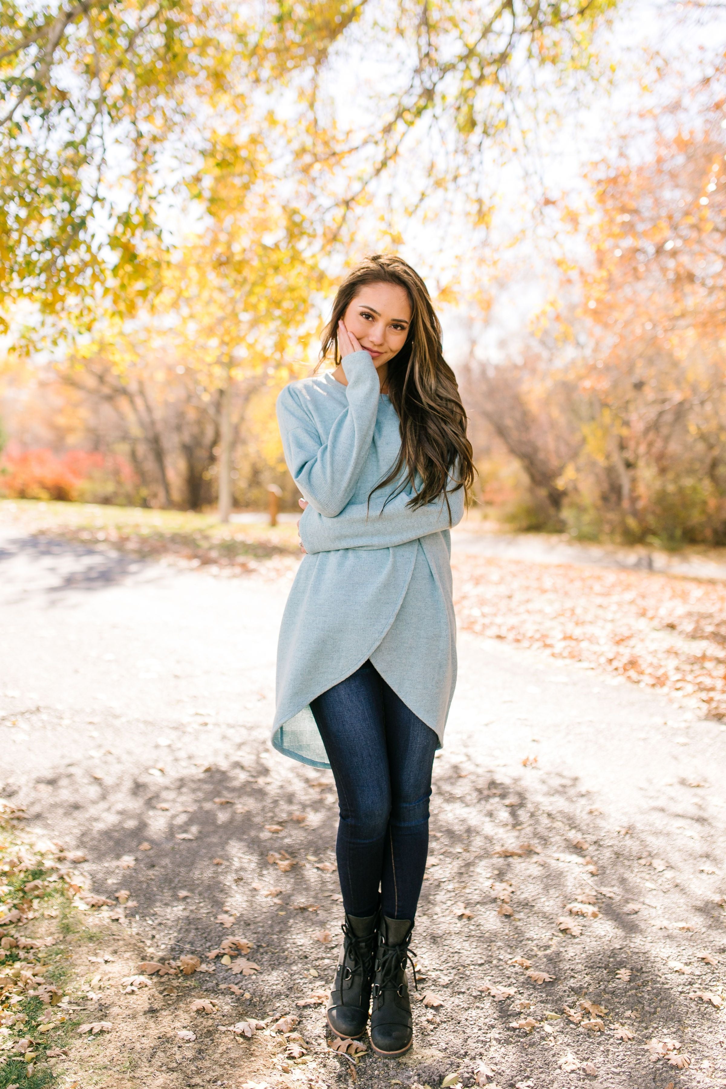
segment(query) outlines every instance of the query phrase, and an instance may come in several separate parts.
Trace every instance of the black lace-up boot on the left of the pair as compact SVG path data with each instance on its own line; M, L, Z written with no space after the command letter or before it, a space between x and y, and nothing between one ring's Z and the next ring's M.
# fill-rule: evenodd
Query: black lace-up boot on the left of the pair
M378 911L366 918L346 915L343 949L328 1003L328 1024L336 1036L355 1040L366 1031Z

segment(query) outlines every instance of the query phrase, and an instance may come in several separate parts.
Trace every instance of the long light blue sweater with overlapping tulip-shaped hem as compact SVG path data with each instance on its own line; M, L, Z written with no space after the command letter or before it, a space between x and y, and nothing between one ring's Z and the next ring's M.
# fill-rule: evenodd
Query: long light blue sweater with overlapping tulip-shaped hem
M398 417L368 352L346 356L343 370L347 386L319 375L278 399L285 461L310 505L300 519L308 554L280 629L272 744L316 768L330 764L310 701L368 659L439 748L456 683L446 503L414 511L409 485L386 504L394 482L369 504L398 456ZM464 489L448 502L456 525Z

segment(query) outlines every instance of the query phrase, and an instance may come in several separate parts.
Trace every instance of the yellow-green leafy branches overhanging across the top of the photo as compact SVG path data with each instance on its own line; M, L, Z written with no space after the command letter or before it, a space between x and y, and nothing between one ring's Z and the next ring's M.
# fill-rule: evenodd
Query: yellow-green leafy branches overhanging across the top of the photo
M0 322L20 301L89 328L103 294L134 314L160 286L159 241L173 241L162 228L199 156L213 167L220 122L227 148L274 147L330 244L410 133L496 138L506 103L537 96L534 70L586 65L614 3L0 0ZM359 131L341 122L335 81L325 85L331 50L335 81L346 58L365 76L373 53L392 76ZM427 169L433 189L431 170L451 178L462 163Z

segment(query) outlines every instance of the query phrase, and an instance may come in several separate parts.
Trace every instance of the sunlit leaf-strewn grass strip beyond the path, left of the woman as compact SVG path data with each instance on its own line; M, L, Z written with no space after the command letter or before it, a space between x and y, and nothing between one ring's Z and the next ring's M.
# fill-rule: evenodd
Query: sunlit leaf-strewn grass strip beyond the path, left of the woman
M244 566L250 560L298 554L295 525L225 525L213 514L190 511L0 500L3 516L36 536L113 547L140 558L174 555L198 564Z

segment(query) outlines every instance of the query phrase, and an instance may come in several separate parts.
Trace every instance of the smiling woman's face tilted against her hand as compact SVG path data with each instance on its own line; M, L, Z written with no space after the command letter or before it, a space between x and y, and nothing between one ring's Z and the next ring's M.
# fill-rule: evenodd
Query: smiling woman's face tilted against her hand
M343 325L370 352L378 370L406 343L411 308L408 294L395 283L368 283L343 316Z

